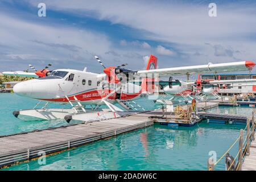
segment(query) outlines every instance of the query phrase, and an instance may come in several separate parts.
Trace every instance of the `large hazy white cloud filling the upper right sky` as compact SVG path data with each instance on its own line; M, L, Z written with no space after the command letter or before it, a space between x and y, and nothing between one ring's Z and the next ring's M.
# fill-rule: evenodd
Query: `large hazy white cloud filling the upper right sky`
M28 1L36 6L37 2ZM174 44L176 50L183 52L180 58L185 56L187 63L205 63L205 56L210 60L233 61L232 57L230 60L222 60L221 56L215 56L214 49L205 46L205 42L221 44L224 47L232 46L233 49L244 51L238 59L256 59L255 39L248 39L256 32L255 4L217 4L217 17L210 18L207 3L117 0L45 2L49 9L85 16L89 14L99 20L109 20L142 30L143 34L139 36L143 39L171 43L171 47ZM204 56L193 57L196 51ZM192 61L193 58L196 61Z

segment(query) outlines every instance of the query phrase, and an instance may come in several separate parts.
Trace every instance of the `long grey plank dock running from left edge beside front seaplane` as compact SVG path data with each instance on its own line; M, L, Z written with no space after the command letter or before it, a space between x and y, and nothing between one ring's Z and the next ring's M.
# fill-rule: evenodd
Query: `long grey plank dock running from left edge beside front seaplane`
M0 168L151 126L148 114L0 137Z

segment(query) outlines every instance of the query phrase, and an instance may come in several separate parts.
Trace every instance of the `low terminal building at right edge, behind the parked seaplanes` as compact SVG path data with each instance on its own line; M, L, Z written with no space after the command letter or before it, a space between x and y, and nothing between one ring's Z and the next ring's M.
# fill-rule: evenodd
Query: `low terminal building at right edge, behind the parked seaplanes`
M202 75L202 80L241 80L241 79L256 79L256 74L205 74ZM229 86L230 84L227 84ZM236 84L238 85L238 84ZM220 84L220 88L221 88ZM232 85L230 85L232 86ZM250 86L233 86L227 89L220 89L218 93L221 96L232 96L242 94L243 96L256 96L256 82L255 85Z

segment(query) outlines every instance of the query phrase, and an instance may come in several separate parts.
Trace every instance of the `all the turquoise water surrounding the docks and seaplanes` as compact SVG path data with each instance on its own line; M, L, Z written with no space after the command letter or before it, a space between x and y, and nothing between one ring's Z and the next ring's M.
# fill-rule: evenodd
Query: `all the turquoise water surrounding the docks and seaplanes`
M68 125L61 120L24 122L15 118L13 110L30 109L37 101L15 94L0 94L0 135ZM146 109L154 109L152 101L140 100ZM56 107L56 105L53 105ZM250 107L219 107L211 111L251 114ZM119 135L85 146L48 156L46 164L31 160L5 170L205 170L209 151L219 158L239 135L244 126L201 122L193 127L171 129L155 124L147 129ZM231 154L237 152L234 147ZM224 160L216 169L225 169Z

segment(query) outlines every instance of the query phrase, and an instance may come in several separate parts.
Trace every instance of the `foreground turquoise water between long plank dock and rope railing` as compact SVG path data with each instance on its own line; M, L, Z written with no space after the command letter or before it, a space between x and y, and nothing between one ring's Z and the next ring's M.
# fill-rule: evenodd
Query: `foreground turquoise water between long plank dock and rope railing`
M48 156L45 165L34 160L7 170L205 170L208 152L221 156L239 129L208 123L179 130L155 125ZM223 160L216 169L225 169Z

